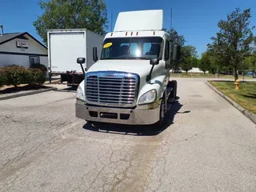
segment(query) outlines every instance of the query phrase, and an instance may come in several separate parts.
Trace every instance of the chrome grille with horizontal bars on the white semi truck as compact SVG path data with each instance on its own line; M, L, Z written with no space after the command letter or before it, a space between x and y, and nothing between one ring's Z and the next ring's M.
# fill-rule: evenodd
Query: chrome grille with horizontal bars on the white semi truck
M133 106L138 77L116 72L113 76L110 72L86 75L86 101L107 106Z

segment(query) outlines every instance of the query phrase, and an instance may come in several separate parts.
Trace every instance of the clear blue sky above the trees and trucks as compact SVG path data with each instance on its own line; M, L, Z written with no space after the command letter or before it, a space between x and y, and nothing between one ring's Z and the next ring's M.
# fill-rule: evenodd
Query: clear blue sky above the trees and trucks
M186 38L186 45L197 48L198 54L206 50L210 37L218 31L218 21L225 19L226 14L240 7L251 8L252 25L256 26L255 0L105 0L114 22L120 11L154 10L164 11L164 27L170 28L170 8L173 10L172 26ZM36 34L33 21L42 14L37 0L0 0L0 24L4 32L29 32L41 41ZM110 27L107 31L110 31ZM254 32L255 34L255 32Z

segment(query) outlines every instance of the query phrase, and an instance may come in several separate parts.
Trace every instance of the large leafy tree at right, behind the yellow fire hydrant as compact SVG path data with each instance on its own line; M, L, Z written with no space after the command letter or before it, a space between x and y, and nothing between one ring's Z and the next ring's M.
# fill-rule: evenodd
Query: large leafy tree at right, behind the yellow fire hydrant
M234 80L238 79L239 70L242 73L256 70L255 26L250 25L250 19L250 8L236 8L218 22L219 30L202 54L202 70L213 74L226 70L234 74Z

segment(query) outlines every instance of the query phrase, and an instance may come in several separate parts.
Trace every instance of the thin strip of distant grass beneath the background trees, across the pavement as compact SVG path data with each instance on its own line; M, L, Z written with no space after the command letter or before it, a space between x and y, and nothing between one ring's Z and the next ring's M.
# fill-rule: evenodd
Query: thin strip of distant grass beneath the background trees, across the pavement
M174 74L170 73L170 77L172 78L216 78L215 74L202 74L202 73L182 73L182 74ZM219 78L229 78L229 79L234 79L234 75L225 75L225 74L220 74ZM242 75L239 75L238 78L240 80L243 79ZM252 77L245 76L245 79L250 79Z

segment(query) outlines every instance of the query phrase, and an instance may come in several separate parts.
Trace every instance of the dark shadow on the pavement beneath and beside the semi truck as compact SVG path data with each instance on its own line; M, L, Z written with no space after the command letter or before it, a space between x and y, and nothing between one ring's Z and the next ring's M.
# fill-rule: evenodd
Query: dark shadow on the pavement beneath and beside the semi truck
M134 135L134 136L154 136L162 133L166 130L170 125L174 124L174 117L178 114L179 110L182 108L182 105L175 101L171 106L170 110L166 114L166 123L165 126L162 126L162 129L159 129L155 125L146 125L146 126L130 126L130 125L119 125L119 124L112 124L112 123L86 123L83 126L83 129L108 133L108 134L124 134L124 135ZM185 111L186 112L186 111ZM182 112L182 113L185 113ZM189 113L190 111L186 112ZM181 113L181 112L180 112Z

